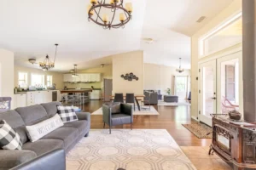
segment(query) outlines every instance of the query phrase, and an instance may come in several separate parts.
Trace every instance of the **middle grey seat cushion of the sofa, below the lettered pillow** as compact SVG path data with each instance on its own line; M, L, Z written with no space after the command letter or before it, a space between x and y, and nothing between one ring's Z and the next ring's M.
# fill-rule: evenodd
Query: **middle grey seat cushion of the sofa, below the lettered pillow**
M32 150L37 154L37 156L41 156L51 150L63 148L63 141L58 139L39 139L36 142L27 142L22 146L22 150Z

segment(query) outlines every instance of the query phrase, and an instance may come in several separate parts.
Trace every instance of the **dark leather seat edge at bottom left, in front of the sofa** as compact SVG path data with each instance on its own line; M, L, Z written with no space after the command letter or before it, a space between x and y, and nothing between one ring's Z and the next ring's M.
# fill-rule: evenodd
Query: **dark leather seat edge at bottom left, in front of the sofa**
M66 156L64 150L53 150L38 156L32 161L20 164L11 170L66 170Z

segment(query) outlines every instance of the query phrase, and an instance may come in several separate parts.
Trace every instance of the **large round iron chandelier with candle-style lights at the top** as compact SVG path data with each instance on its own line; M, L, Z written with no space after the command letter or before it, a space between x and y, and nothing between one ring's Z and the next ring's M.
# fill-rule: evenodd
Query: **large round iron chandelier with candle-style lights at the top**
M97 25L102 26L104 29L125 27L131 20L132 13L132 3L125 3L125 8L123 6L124 0L90 0L90 5L88 6L88 20L92 20ZM108 14L112 17L109 20ZM116 15L119 14L119 20L115 19Z

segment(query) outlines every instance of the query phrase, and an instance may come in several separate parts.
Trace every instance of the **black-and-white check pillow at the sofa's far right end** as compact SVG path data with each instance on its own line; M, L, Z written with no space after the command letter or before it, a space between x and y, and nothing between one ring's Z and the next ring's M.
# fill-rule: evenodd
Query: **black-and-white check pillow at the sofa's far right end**
M61 116L62 122L78 121L78 116L73 110L73 106L57 106L58 114Z

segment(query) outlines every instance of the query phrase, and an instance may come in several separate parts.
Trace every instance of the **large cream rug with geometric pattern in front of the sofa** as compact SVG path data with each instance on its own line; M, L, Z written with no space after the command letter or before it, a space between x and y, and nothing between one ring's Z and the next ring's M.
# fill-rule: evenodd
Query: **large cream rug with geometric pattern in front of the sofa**
M165 129L91 130L67 154L67 170L195 170Z

